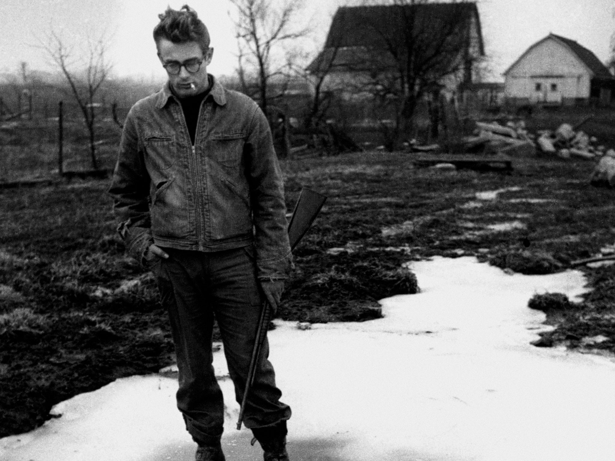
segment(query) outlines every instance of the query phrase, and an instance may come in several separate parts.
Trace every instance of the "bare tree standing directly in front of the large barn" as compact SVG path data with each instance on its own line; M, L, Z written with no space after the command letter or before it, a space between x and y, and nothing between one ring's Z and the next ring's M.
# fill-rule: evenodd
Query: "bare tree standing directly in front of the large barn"
M411 131L421 98L437 101L446 78L460 73L471 78L476 55L470 50L480 47L470 34L470 22L477 20L472 8L475 4L463 0L365 4L354 9L354 22L338 28L341 38L328 37L354 53L347 59L359 76L351 83L354 92L370 95L383 112L393 112L393 123L386 128L395 146Z

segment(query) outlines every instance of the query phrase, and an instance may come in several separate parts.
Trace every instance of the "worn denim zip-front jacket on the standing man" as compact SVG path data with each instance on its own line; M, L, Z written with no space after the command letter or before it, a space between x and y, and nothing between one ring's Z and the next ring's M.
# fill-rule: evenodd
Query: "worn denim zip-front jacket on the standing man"
M192 146L169 84L138 101L124 124L109 194L130 256L151 243L220 251L252 243L259 278L292 264L282 172L266 117L213 79Z

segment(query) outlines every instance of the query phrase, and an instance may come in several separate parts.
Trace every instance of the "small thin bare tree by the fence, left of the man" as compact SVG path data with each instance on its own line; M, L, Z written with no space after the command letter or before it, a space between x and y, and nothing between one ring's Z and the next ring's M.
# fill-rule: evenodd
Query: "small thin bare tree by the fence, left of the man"
M92 168L98 170L96 158L96 117L95 103L98 91L111 72L111 64L106 60L108 39L103 33L97 39L86 37L85 52L78 55L72 47L66 45L55 31L47 36L41 47L54 61L68 83L69 91L77 102L89 134L90 157ZM77 67L78 66L78 67Z

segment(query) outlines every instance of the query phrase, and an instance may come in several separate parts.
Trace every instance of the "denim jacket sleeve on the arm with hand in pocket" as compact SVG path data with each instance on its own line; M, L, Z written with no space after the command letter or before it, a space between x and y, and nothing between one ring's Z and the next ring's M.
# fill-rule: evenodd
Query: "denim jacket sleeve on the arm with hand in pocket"
M127 253L144 265L145 251L153 243L149 216L149 183L143 146L131 109L124 124L109 194L113 197L113 211L120 221L117 231L124 240Z

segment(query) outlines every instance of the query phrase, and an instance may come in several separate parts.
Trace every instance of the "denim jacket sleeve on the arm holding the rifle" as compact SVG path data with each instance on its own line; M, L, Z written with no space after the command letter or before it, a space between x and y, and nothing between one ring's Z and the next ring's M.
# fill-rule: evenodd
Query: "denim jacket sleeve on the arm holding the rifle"
M245 154L255 230L256 275L260 280L287 278L293 262L288 242L284 179L269 123L258 106L248 128Z

